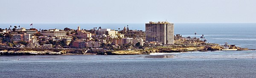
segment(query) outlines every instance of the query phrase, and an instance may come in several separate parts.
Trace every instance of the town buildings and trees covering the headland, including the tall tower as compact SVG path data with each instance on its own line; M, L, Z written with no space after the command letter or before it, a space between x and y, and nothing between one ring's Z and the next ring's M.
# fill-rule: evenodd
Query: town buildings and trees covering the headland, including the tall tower
M11 26L12 27L12 26ZM28 48L79 48L79 49L143 49L143 47L165 45L204 45L206 40L184 38L174 35L174 24L149 22L142 30L130 30L128 25L122 30L102 29L26 29L0 28L0 41L8 46Z

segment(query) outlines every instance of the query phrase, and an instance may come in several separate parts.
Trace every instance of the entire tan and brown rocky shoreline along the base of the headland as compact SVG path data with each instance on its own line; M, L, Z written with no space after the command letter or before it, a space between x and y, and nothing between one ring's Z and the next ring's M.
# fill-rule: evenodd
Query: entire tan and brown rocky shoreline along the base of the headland
M221 51L221 46L161 46L128 51L87 52L84 49L0 48L0 55L149 55L155 52ZM255 50L237 47L237 50Z

